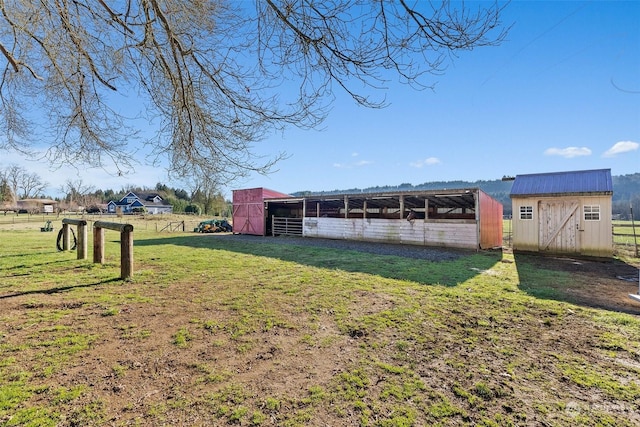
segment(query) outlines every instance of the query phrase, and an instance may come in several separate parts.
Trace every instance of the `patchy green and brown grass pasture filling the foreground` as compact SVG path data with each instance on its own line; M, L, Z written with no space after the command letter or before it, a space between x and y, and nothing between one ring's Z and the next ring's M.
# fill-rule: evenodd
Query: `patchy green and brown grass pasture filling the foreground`
M640 425L638 259L134 225L123 281L0 224L0 425Z

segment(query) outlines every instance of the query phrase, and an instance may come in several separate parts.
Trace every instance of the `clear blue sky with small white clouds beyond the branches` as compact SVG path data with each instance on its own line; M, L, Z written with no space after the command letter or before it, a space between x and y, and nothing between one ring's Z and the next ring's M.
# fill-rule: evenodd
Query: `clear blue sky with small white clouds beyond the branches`
M434 91L390 82L377 94L391 104L381 110L338 94L321 130L291 128L256 144L265 156L284 151L289 158L269 176L230 183L225 194L640 172L640 2L513 1L502 19L513 24L507 39L460 52L433 77ZM2 157L0 165L20 162L40 173L51 194L69 178L116 190L172 185L161 168L113 177Z

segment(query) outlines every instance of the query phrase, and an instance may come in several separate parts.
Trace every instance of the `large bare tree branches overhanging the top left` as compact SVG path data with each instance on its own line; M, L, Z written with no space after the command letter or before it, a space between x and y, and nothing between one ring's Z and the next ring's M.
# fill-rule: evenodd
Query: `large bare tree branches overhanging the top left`
M378 108L376 89L389 79L430 87L450 56L502 40L501 10L417 0L0 0L0 146L28 152L44 140L57 164L122 172L150 144L178 176L267 172L281 154L257 157L254 143L287 125L318 125L336 89ZM153 137L138 135L141 119Z

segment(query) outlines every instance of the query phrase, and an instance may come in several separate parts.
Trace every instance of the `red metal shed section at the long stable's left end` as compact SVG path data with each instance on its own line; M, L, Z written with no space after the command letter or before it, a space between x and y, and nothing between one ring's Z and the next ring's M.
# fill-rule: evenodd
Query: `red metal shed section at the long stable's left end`
M233 231L236 234L264 236L266 227L265 199L289 197L267 188L233 190Z

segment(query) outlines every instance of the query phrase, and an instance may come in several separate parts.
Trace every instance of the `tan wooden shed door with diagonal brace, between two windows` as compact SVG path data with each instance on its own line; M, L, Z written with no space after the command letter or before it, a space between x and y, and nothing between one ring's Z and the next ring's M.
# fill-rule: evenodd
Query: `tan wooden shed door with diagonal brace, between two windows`
M539 249L546 252L578 253L580 215L576 200L541 201Z

